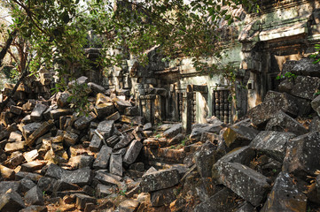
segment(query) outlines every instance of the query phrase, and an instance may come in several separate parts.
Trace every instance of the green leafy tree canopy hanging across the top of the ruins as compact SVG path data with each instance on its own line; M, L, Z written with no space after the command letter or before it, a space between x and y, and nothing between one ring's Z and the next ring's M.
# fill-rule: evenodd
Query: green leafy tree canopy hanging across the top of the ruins
M140 64L148 63L148 52L157 49L166 58L192 57L197 71L225 72L233 82L235 75L230 66L209 64L208 58L217 61L222 54L222 23L227 26L241 20L230 11L245 7L259 11L257 0L122 0L113 4L108 0L5 0L3 5L12 15L8 34L19 29L19 36L27 42L27 50L34 54L30 72L35 74L45 64L59 72L60 79L74 77L74 69L86 72L90 61L84 48L102 49L95 64L105 67L121 65L129 54ZM116 7L116 10L113 8ZM99 34L99 36L89 36ZM111 54L109 49L121 49L121 54ZM28 55L31 57L31 54ZM63 81L61 81L64 84ZM64 89L56 87L56 91ZM78 102L84 94L73 87L74 106L87 107Z

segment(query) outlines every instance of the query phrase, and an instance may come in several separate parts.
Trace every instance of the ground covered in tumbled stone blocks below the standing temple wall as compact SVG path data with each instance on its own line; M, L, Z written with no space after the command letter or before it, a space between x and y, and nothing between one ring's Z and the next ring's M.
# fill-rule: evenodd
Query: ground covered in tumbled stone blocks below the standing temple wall
M83 116L68 91L48 94L48 75L20 86L1 114L1 211L319 210L319 78L285 79L248 118L190 135L144 123L126 90L88 85Z

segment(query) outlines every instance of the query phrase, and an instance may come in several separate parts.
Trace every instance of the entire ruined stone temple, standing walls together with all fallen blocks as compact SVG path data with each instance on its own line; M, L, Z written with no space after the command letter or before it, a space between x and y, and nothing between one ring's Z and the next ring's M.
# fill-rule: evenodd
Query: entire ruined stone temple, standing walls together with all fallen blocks
M190 58L154 52L148 67L129 58L106 79L79 76L83 116L68 89L51 95L54 73L21 84L0 116L0 210L319 210L320 64L303 57L318 41L311 2L267 1L261 19L246 16L230 48L247 87L236 105Z

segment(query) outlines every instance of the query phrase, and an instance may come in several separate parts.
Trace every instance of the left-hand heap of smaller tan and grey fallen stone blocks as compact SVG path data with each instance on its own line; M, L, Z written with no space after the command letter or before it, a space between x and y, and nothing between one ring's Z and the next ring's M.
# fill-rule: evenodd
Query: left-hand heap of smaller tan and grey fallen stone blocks
M49 100L15 96L1 114L1 211L134 211L146 193L154 193L153 206L161 205L154 195L178 184L181 173L146 171L144 163L136 162L142 141L154 133L152 124L143 125L128 92L115 95L85 77L76 84L90 87L87 115L77 116L70 108L68 91ZM27 89L20 89L24 93ZM165 133L172 136L172 130ZM136 195L136 200L124 195Z

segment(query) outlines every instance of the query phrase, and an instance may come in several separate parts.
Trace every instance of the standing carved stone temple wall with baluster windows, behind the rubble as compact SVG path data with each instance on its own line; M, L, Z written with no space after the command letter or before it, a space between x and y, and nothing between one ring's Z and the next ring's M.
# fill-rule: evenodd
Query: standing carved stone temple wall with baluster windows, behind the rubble
M224 27L223 45L228 57L222 63L238 67L237 102L232 102L231 109L224 102L228 96L215 94L217 87L221 90L227 86L221 76L211 78L196 72L190 57L164 62L155 50L149 52L150 63L146 67L128 56L121 68L109 70L103 84L133 95L151 122L204 123L206 117L213 115L230 122L245 116L247 110L262 102L267 91L277 87L277 74L286 61L300 60L315 51L314 45L320 39L319 8L317 1L264 1L259 13L243 15L242 21ZM109 52L121 53L121 49ZM208 62L215 60L209 58ZM194 94L188 98L189 85L207 87L206 92L192 90ZM189 110L185 101L191 102Z

